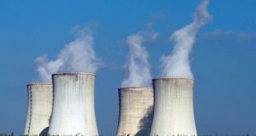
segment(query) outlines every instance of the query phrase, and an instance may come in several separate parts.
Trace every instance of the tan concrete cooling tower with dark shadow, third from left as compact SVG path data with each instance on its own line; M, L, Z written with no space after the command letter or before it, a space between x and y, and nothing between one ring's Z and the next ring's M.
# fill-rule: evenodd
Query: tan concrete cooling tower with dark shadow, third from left
M153 99L151 87L120 88L119 123L116 135L149 135L153 117Z

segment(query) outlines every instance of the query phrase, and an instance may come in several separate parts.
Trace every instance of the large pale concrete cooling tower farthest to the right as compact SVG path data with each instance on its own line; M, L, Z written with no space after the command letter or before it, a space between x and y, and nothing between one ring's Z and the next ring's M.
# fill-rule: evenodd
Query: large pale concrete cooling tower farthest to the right
M197 135L193 110L193 83L186 78L157 78L151 136Z

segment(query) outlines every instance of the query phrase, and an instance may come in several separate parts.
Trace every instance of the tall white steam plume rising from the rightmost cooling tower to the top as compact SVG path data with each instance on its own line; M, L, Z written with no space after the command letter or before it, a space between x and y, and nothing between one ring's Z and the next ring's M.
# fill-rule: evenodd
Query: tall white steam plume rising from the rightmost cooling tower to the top
M195 43L198 30L211 20L207 10L210 0L203 0L194 13L191 24L177 30L170 36L175 42L173 52L169 56L162 57L163 77L188 77L193 78L190 68L189 54Z

